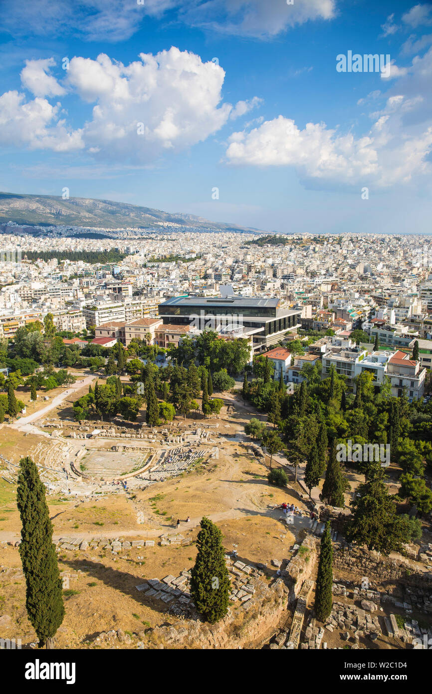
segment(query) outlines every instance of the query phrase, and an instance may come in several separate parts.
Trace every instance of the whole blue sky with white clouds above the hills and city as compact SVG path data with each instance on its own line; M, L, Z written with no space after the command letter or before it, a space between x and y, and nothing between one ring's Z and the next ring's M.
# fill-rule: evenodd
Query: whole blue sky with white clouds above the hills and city
M1 8L1 190L280 232L431 234L431 3ZM348 51L385 71L336 71Z

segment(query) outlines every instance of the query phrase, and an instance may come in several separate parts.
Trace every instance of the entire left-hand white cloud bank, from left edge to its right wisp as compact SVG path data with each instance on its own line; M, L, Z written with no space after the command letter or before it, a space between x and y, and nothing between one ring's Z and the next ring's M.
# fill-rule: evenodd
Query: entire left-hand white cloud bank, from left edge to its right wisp
M105 53L96 60L72 58L62 85L48 74L51 58L27 61L21 81L36 98L26 102L24 94L3 94L3 141L55 151L85 149L101 161L148 164L166 151L182 151L206 139L230 114L239 117L261 103L256 96L235 108L223 103L225 71L195 53L172 47L139 58L130 65ZM91 117L71 132L60 120L61 105L42 99L66 90L93 105Z

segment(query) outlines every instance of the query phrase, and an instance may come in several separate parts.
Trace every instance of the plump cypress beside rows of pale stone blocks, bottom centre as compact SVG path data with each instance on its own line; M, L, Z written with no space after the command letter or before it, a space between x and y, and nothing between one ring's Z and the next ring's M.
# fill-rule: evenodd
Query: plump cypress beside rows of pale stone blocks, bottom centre
M191 570L191 595L196 609L211 624L228 611L230 577L225 564L221 530L209 518L202 518L198 532L195 566Z

